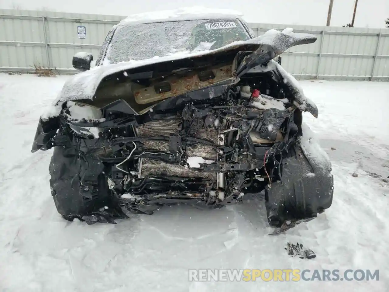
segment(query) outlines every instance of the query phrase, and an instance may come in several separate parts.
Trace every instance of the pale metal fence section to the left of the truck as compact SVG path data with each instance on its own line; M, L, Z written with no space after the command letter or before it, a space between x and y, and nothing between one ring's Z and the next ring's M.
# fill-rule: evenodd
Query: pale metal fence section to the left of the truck
M75 73L72 57L95 57L107 32L124 16L0 9L0 71L33 71L34 65ZM79 39L77 26L86 27Z

